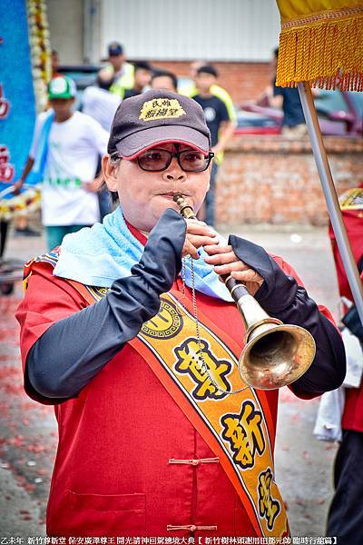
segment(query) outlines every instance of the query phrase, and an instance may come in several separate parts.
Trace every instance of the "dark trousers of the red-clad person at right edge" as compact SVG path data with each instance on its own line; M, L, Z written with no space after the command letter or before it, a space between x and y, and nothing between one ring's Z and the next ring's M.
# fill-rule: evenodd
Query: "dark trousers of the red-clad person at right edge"
M338 545L363 543L363 433L344 430L334 466L335 494L328 515L328 536Z

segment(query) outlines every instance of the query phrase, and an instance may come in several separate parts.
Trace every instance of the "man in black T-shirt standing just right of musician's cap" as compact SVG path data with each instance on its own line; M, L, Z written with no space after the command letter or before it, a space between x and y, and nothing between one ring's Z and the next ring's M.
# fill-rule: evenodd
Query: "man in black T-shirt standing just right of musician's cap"
M210 189L205 198L205 222L209 225L214 223L214 188L218 164L221 164L223 151L234 130L234 124L230 119L226 105L220 98L211 94L211 85L216 83L217 77L218 73L214 66L211 64L201 66L195 77L198 94L192 97L198 104L201 104L204 111L205 120L211 131L211 151L215 154Z

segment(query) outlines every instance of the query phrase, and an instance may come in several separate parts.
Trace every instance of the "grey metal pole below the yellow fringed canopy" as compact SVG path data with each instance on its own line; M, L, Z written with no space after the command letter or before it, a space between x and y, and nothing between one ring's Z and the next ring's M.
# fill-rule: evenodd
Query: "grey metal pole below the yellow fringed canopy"
M321 186L328 206L331 225L338 243L338 250L347 273L347 278L352 292L354 302L357 306L360 322L363 324L363 287L359 277L357 264L348 241L346 226L338 203L338 196L330 172L327 151L324 147L320 132L319 121L315 104L312 98L311 89L307 82L298 84L302 109L304 111L309 137L317 163Z

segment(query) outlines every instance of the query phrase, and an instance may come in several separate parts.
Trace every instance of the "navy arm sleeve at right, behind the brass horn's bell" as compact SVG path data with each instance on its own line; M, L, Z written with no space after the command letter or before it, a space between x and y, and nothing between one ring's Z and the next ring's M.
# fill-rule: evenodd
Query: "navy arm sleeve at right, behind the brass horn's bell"
M285 274L263 248L234 235L229 243L240 260L264 279L255 294L261 307L281 322L304 327L314 337L317 345L314 361L308 371L290 385L291 390L303 396L320 395L338 388L346 374L346 357L337 328L319 312L306 290Z

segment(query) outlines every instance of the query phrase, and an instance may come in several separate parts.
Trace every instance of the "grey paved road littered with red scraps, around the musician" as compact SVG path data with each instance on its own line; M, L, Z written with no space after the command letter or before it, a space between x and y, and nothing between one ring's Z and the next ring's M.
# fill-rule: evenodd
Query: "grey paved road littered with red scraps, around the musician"
M299 271L310 295L337 314L337 283L325 230L245 225L232 232L284 256ZM43 251L43 238L10 236L5 255L26 261ZM15 294L0 299L0 537L26 538L44 535L56 427L53 410L23 393L14 319L20 297L17 282ZM280 391L276 475L296 536L324 535L331 496L336 447L312 436L318 402L300 401L287 389Z

